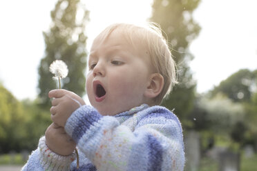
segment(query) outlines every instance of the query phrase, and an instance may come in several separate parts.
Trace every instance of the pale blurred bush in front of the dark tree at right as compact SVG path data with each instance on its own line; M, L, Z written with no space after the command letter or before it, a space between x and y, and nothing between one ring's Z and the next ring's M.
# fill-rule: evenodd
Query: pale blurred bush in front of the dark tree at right
M215 132L215 136L229 135L228 146L238 143L242 146L247 139L246 111L242 103L236 103L224 96L202 97L198 99L196 108L191 113L194 118L193 129ZM192 119L193 120L193 119Z

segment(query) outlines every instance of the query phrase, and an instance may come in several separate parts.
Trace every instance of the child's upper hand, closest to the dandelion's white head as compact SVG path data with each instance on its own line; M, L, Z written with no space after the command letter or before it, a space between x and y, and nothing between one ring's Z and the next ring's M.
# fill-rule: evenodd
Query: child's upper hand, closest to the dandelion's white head
M49 98L55 98L50 108L51 119L57 125L64 127L70 115L80 106L84 105L84 100L74 92L64 89L51 90Z

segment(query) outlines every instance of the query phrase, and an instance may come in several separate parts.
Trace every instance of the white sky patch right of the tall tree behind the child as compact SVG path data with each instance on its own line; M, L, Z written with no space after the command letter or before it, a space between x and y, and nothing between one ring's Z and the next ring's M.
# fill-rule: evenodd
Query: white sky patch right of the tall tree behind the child
M242 68L257 69L256 8L256 0L202 0L193 15L202 30L190 46L198 92Z

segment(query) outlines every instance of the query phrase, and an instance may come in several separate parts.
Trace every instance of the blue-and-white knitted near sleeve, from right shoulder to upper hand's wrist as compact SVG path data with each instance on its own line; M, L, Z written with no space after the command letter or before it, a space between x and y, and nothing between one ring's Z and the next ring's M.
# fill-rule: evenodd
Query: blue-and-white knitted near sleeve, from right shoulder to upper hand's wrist
M65 130L97 170L183 170L182 128L175 114L162 107L137 114L131 130L83 105L67 120Z

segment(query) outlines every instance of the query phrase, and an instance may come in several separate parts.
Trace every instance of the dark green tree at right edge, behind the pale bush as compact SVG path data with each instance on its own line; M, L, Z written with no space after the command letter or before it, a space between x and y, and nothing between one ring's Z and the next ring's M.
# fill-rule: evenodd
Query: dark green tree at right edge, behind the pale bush
M240 145L257 144L257 70L238 70L210 91L211 97L222 94L240 104L245 111L243 119L230 127L231 139ZM236 112L236 111L235 111Z

